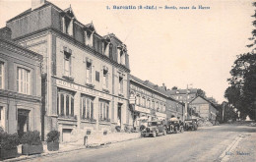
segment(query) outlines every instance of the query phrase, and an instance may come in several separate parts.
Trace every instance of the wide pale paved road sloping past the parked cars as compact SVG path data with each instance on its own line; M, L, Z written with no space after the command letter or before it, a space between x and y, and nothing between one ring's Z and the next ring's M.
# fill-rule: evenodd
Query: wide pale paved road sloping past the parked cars
M144 137L98 148L84 149L40 157L30 161L163 161L212 162L218 158L237 135L256 133L256 128L245 126L215 126L197 132Z

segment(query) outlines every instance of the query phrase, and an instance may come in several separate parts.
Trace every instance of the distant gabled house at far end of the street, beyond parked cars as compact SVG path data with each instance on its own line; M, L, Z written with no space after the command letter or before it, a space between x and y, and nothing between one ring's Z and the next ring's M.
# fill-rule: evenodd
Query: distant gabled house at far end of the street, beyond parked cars
M194 112L194 113L192 113ZM202 96L197 96L189 103L188 113L197 113L201 118L216 121L218 110L215 104Z

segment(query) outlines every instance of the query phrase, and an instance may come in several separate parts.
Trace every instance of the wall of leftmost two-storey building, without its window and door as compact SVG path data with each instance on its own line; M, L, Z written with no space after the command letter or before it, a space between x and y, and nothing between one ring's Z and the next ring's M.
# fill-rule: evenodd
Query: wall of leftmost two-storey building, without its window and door
M30 51L17 47L13 42L0 39L0 62L4 63L4 87L0 87L1 124L7 133L18 131L18 112L29 111L30 131L41 131L41 56L33 56ZM23 94L17 87L18 67L30 71L30 92ZM27 129L26 129L27 131Z

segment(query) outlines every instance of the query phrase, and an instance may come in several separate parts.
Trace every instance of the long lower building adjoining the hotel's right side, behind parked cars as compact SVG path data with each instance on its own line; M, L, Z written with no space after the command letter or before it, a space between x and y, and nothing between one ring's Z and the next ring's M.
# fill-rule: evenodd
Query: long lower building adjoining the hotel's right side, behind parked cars
M135 99L134 104L130 103L135 127L145 118L148 121L168 120L173 115L183 119L184 105L167 95L164 84L159 86L131 75L129 96Z

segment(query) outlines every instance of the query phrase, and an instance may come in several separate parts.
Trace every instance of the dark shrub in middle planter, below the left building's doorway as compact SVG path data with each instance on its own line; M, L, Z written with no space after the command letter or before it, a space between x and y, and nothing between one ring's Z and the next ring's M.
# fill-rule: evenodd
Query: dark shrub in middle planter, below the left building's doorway
M40 133L38 131L29 131L21 138L22 144L38 145L40 141Z

